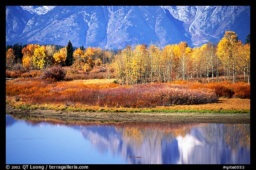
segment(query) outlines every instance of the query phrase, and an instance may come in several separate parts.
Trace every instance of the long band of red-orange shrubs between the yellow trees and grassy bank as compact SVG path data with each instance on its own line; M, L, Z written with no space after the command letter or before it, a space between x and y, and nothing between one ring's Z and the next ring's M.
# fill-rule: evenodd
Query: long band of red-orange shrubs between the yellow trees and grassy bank
M26 80L26 81L24 81ZM48 84L46 79L19 78L7 82L6 94L20 96L30 103L66 103L94 106L145 108L176 104L206 104L218 100L210 89L189 89L179 84L142 84L135 86L84 85L67 82Z

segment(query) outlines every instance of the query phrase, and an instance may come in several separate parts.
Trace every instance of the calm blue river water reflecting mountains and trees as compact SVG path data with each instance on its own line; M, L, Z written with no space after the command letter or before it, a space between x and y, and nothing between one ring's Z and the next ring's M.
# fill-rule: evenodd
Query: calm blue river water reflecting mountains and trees
M250 124L17 120L6 164L250 164Z

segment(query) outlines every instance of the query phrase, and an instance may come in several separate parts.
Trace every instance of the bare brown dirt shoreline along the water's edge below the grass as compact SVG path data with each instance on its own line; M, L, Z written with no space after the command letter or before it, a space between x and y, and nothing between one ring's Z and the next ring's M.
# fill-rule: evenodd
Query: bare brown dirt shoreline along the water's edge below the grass
M250 124L250 113L214 112L61 112L53 110L20 110L6 107L6 114L19 117L57 120L165 122L176 124Z

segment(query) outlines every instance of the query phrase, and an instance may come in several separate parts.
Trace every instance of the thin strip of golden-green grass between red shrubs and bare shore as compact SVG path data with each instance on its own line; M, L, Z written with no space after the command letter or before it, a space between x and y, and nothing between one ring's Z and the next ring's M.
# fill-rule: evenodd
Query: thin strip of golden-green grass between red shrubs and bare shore
M238 98L222 98L214 104L176 105L154 108L113 108L88 105L65 104L25 104L23 102L9 103L7 105L22 110L54 110L63 112L212 112L212 113L250 113L250 100Z

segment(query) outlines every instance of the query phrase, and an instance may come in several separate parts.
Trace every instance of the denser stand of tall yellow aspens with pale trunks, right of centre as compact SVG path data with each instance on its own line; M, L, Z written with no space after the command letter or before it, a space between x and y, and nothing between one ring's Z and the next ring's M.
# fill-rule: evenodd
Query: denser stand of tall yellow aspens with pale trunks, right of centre
M191 48L187 42L164 46L126 46L115 56L114 65L122 84L135 85L176 80L236 82L243 75L249 83L250 45L237 40L235 32L226 31L216 45L208 42Z

